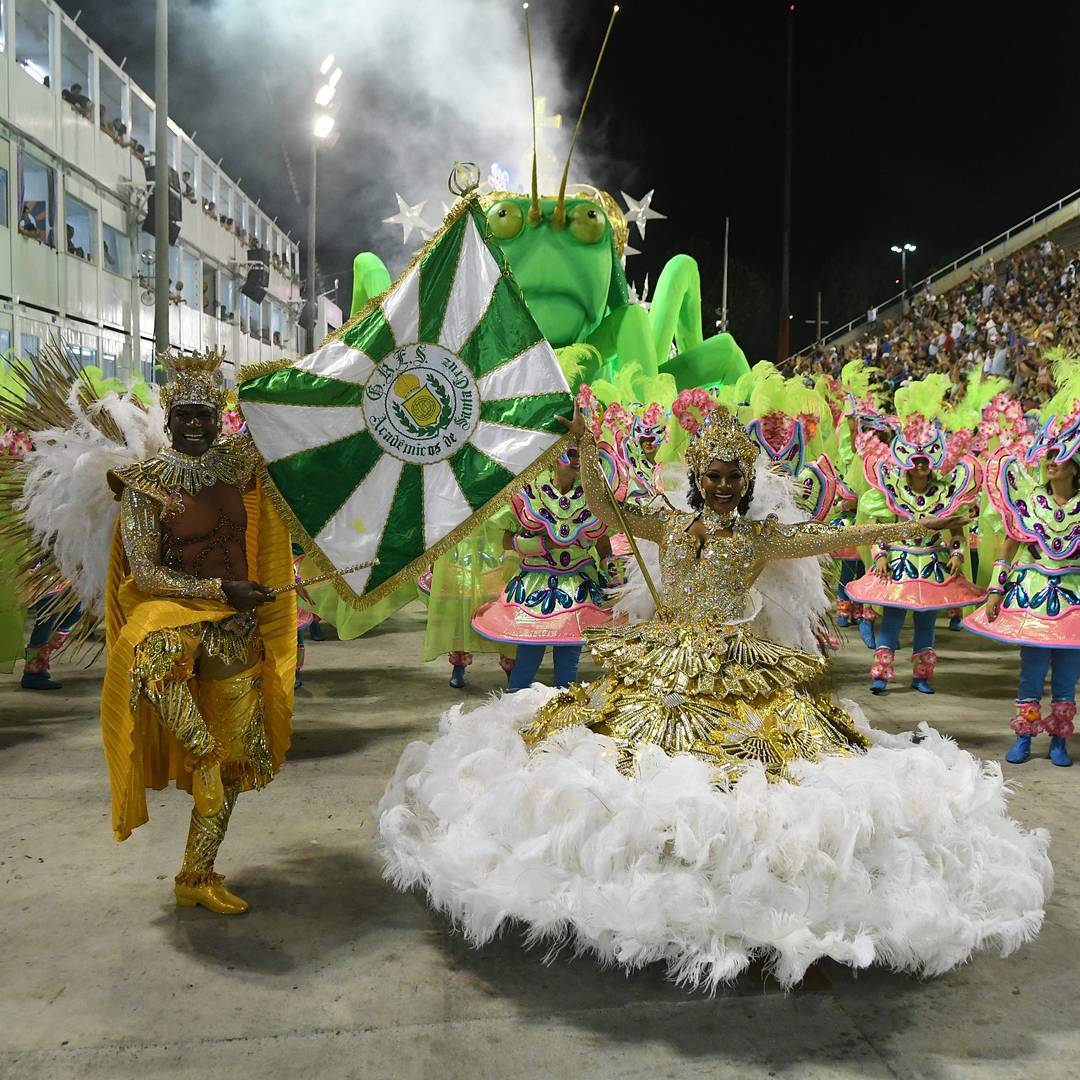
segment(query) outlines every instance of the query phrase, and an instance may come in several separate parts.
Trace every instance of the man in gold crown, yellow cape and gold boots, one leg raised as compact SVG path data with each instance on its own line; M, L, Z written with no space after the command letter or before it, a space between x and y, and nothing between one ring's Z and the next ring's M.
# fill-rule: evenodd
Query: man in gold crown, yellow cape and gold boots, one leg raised
M246 434L221 437L221 355L173 356L171 446L109 473L120 500L105 599L102 731L118 840L146 788L194 799L176 903L239 915L214 870L240 792L269 783L292 734L296 602L288 531Z

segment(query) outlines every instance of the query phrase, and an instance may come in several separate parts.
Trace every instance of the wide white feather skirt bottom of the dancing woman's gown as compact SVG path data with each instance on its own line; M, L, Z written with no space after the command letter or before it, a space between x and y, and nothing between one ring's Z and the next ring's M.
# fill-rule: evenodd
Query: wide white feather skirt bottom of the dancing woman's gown
M474 945L517 923L627 971L662 961L715 991L754 959L792 986L824 957L937 975L1038 933L1052 886L1044 829L1007 813L1000 768L921 725L767 783L717 787L688 755L571 729L529 753L534 686L447 712L404 752L378 806L384 874L423 889Z

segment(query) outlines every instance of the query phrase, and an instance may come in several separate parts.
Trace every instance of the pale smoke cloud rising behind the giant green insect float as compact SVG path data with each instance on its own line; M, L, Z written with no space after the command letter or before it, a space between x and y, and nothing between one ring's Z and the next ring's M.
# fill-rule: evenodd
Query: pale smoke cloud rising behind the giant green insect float
M138 6L145 53L152 5ZM541 0L530 16L537 95L548 116L563 117L562 127L541 127L541 189L550 191L589 77L567 72L564 57L579 33L598 46L604 22L569 0ZM482 178L498 162L527 190L529 76L514 0L174 0L170 38L172 114L198 129L197 141L222 153L222 168L297 239L319 67L334 54L343 73L332 105L337 139L319 157L319 262L324 281L342 280L342 299L356 252L377 252L395 272L417 246L416 233L405 247L401 228L382 224L397 211L395 192L426 202L423 218L437 225L453 201L455 161L476 162ZM144 84L152 87L149 75ZM590 119L571 180L593 181L600 161L603 120Z

